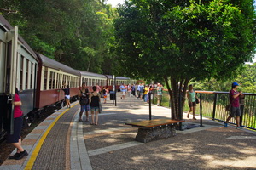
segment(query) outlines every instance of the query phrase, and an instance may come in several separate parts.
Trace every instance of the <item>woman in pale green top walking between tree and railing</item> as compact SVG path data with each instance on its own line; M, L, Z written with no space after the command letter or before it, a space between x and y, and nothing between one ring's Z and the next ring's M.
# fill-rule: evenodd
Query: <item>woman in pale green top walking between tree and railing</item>
M196 109L196 99L198 97L195 94L195 90L193 89L193 85L189 85L189 91L187 92L187 98L189 99L189 111L187 117L189 118L189 113L192 111L193 112L193 119L196 120L195 118L195 109ZM199 99L198 99L199 101Z

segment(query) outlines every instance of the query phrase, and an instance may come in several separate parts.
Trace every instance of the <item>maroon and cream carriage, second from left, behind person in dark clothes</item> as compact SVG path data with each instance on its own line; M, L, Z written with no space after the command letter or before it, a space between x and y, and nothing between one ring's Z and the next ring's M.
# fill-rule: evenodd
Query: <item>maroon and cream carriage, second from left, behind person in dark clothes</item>
M69 85L71 100L79 94L80 73L42 54L38 65L36 107L43 108L65 99L63 84Z

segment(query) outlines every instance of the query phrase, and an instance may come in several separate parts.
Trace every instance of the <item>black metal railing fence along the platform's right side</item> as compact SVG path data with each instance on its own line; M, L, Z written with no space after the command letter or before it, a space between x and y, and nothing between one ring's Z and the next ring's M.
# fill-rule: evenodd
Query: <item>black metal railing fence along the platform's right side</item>
M197 96L201 98L202 116L212 118L212 120L224 122L230 115L230 111L225 111L225 106L229 104L229 92L210 92L210 91L195 91ZM244 94L244 105L241 105L241 126L256 130L256 94ZM156 104L157 96L154 90L153 103ZM170 107L170 97L168 92L163 92L162 105ZM184 111L189 111L187 100L185 102ZM200 114L200 109L197 108L195 114ZM235 119L231 119L230 123L236 124Z

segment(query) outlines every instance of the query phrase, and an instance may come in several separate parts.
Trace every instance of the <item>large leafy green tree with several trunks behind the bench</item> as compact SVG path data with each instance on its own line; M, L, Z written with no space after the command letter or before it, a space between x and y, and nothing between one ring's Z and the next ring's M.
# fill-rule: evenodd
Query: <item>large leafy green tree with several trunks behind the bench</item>
M253 0L131 0L115 27L120 71L164 78L174 119L192 78L231 77L255 49Z

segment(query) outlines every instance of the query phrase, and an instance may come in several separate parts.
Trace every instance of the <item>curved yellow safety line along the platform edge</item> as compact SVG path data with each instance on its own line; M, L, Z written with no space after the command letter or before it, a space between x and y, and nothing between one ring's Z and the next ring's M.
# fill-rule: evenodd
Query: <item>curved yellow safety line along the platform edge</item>
M79 103L77 103L77 104L75 104L75 105L78 105L78 104L79 104ZM75 106L75 105L73 105L73 106ZM73 106L72 106L72 107L73 107ZM33 150L32 156L31 156L30 159L27 161L26 167L25 167L24 169L26 169L26 170L32 169L32 167L33 167L33 165L34 165L34 163L35 163L35 161L36 161L36 159L37 159L39 150L41 149L42 144L44 143L44 140L46 139L46 137L47 137L48 133L50 132L51 128L52 128L53 126L55 126L55 123L56 123L56 122L61 118L61 116L63 116L64 113L66 113L68 110L69 110L69 109L66 109L66 111L63 111L63 112L61 113L61 115L57 116L57 118L55 118L55 121L52 122L52 123L49 125L48 129L45 131L45 133L43 134L42 138L39 140L38 145L37 145L36 148Z

